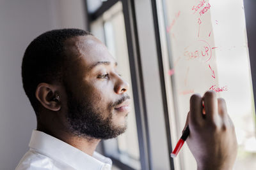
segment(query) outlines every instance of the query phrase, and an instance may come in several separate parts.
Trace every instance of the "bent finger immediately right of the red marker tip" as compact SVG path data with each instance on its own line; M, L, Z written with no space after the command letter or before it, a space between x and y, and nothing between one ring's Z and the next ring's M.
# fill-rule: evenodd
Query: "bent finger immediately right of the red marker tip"
M218 118L218 101L215 92L205 92L204 97L205 119L207 122L215 122Z

